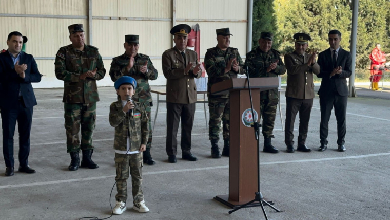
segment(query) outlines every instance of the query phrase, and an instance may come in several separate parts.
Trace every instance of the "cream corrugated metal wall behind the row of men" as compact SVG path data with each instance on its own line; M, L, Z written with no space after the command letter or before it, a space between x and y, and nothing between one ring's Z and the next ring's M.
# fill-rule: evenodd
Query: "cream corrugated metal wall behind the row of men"
M246 52L246 0L1 0L0 49L7 48L7 35L19 31L28 36L26 52L33 54L45 75L35 88L62 87L54 75L57 50L70 44L67 27L82 23L89 42L89 16L92 16L92 45L99 48L107 70L99 86L112 86L108 71L111 58L124 53L124 35L140 35L140 53L152 57L159 78L152 85L164 85L161 55L171 48L169 30L176 24L199 24L201 29L201 61L207 48L217 44L215 29L229 27L234 35L230 46ZM172 13L175 5L175 13Z

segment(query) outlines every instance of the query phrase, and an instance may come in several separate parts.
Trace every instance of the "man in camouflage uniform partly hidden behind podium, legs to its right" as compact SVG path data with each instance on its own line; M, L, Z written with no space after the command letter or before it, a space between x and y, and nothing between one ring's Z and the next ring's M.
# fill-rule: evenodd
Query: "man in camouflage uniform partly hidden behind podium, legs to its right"
M245 65L248 66L249 77L278 77L286 72L279 51L272 49L273 35L261 32L259 47L246 54ZM272 146L274 123L278 107L278 88L272 88L260 93L260 111L263 117L262 133L264 136L264 152L279 153Z

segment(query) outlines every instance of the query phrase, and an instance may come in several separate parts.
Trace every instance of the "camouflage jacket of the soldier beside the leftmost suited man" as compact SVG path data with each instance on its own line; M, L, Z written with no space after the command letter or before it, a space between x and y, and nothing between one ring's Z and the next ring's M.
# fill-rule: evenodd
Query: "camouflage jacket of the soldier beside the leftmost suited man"
M55 76L64 81L65 103L92 103L99 101L96 80L106 75L102 57L96 47L85 45L84 50L76 50L70 44L61 47L55 57ZM80 74L97 69L93 78L79 79Z

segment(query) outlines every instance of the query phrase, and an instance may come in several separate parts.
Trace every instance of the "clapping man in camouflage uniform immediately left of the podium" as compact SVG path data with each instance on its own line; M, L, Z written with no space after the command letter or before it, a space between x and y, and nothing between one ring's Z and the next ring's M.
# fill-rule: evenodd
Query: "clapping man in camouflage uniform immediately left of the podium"
M210 112L208 136L211 141L212 158L221 158L218 147L221 120L224 146L223 156L229 156L230 150L230 99L227 95L211 95L211 86L224 80L237 78L237 74L245 74L244 62L237 48L230 47L229 28L217 29L217 46L207 49L204 63L208 75L207 98Z

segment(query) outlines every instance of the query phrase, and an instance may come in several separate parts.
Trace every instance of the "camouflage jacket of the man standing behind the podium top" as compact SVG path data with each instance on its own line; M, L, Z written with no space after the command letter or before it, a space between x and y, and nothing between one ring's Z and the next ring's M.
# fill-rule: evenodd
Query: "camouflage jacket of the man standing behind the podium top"
M267 72L268 66L273 60L279 60L277 67L270 72ZM286 72L286 67L282 62L279 51L270 49L268 52L263 52L259 47L251 50L246 54L245 65L249 70L249 77L278 77ZM272 88L262 91L260 99L278 99L278 88Z

